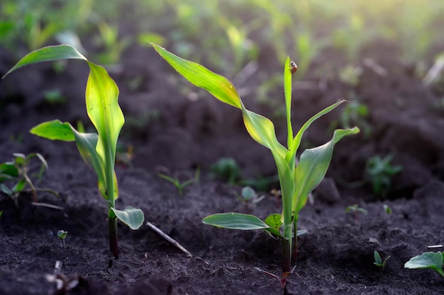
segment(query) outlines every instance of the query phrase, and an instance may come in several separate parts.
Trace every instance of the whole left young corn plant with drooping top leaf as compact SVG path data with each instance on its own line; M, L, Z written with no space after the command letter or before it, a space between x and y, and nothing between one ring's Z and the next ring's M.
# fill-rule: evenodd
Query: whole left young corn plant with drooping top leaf
M114 258L118 259L117 219L131 229L138 229L143 224L144 216L142 210L133 207L116 209L118 198L117 178L114 171L116 143L125 122L123 112L118 105L116 82L102 66L89 62L74 47L68 45L43 47L30 52L6 75L28 64L60 59L83 59L89 65L86 88L87 114L96 127L97 133L79 132L69 122L60 122L60 120L43 122L33 127L30 132L47 139L76 142L84 161L96 171L100 195L108 203L109 247Z

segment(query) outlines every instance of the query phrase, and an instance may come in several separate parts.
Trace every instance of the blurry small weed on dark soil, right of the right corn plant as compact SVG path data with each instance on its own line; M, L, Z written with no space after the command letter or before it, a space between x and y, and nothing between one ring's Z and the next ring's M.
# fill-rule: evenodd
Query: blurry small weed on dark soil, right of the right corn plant
M372 156L365 164L365 173L372 183L374 194L383 199L387 197L392 187L392 178L403 169L402 166L392 166L392 159L392 155L384 158Z

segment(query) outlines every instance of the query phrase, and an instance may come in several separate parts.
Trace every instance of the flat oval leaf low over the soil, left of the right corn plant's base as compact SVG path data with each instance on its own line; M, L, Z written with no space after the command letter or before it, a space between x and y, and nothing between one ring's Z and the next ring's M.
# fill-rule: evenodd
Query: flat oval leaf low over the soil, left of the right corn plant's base
M243 231L268 229L270 227L254 215L235 212L209 215L202 219L202 222L223 229L240 229Z

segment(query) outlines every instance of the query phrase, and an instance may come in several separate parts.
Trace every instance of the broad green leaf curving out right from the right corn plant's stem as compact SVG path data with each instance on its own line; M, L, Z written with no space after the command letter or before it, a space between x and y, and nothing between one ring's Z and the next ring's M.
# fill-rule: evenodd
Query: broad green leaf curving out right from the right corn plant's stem
M297 214L305 206L309 193L318 186L330 166L333 146L345 136L357 134L359 129L336 129L331 141L313 149L306 149L296 166L294 182L296 189L293 197L293 211Z

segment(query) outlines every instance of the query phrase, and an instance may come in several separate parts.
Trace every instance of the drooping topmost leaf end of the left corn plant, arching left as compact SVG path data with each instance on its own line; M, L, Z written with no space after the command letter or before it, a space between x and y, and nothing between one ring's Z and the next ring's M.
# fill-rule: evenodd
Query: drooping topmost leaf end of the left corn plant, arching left
M12 71L21 68L22 66L26 66L28 64L36 64L38 62L49 62L52 60L60 60L60 59L84 59L87 60L80 52L78 52L74 47L70 45L57 45L57 46L48 46L43 47L40 50L35 50L30 52L25 57L20 59L18 63L13 66L4 76L10 74Z

